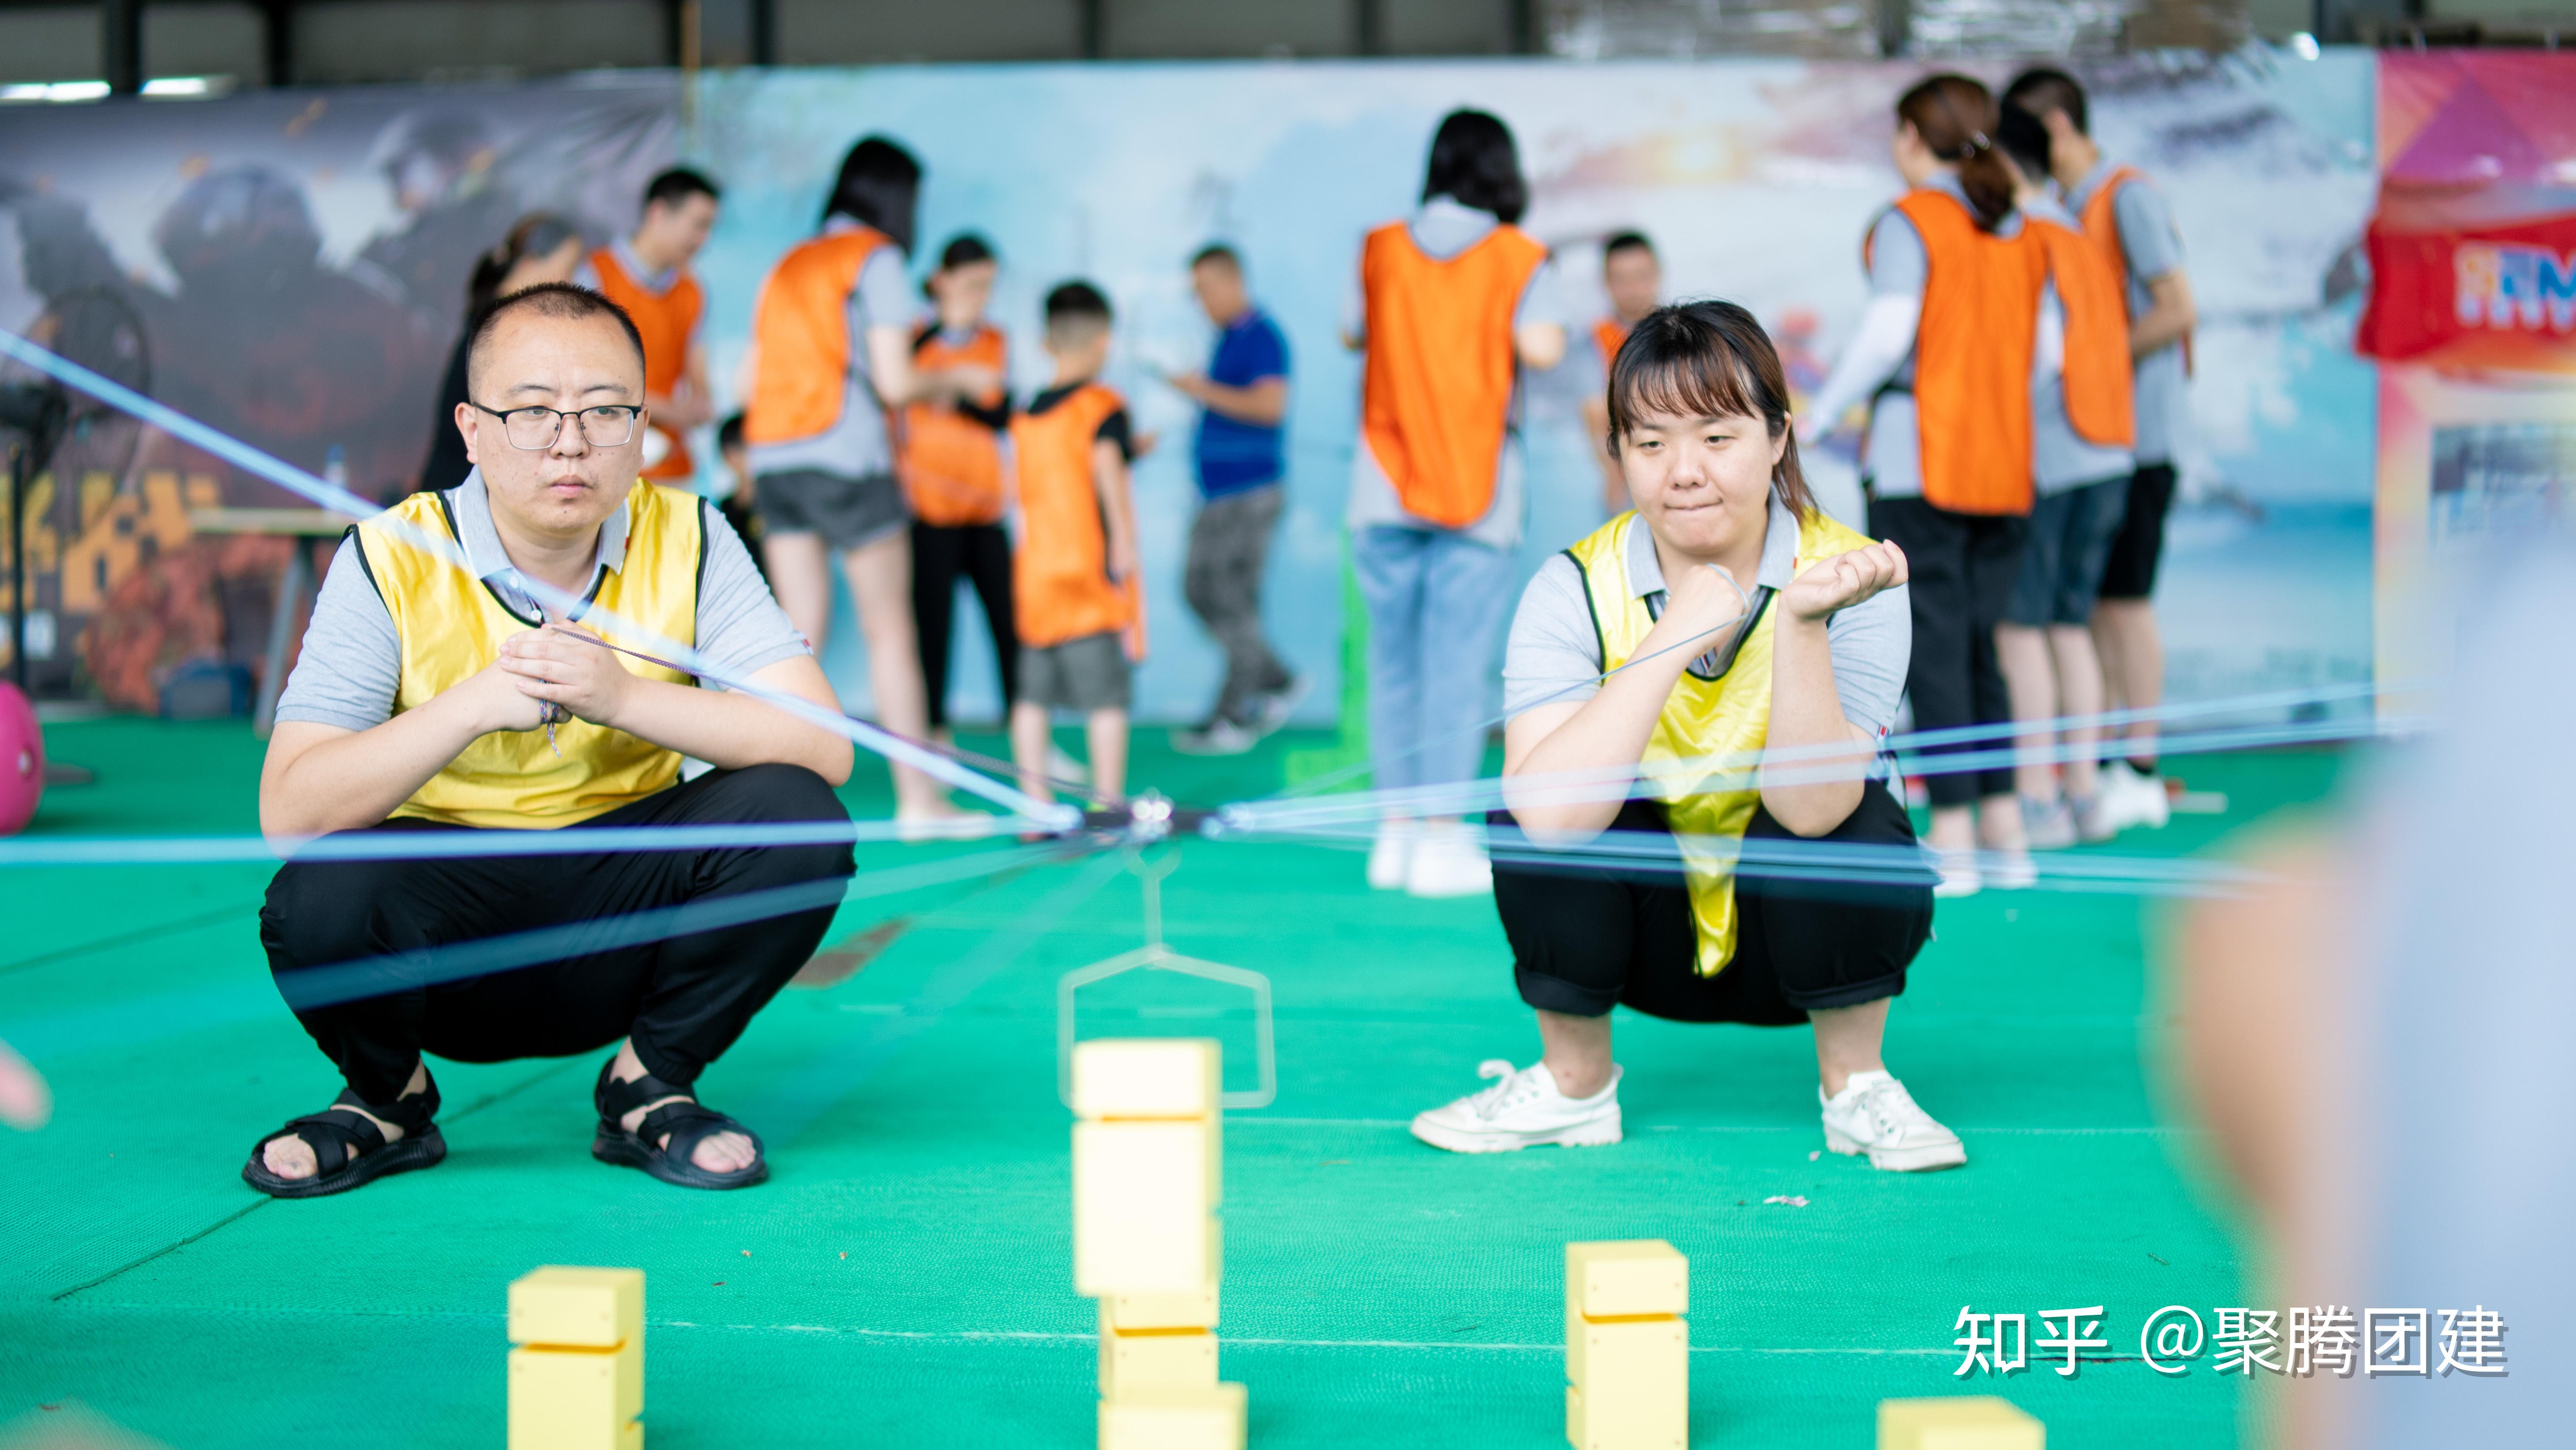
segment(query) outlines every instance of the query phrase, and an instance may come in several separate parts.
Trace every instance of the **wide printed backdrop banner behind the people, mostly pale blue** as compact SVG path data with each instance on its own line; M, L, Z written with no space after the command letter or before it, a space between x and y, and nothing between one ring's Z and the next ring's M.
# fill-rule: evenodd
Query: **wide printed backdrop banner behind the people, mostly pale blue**
M958 232L994 242L994 317L1023 399L1046 381L1048 286L1090 278L1118 309L1108 381L1159 438L1136 469L1157 621L1144 719L1198 719L1221 670L1180 595L1193 410L1159 373L1206 366L1213 340L1188 291L1190 252L1224 240L1247 258L1293 366L1267 616L1316 680L1303 719L1327 724L1358 435L1358 358L1340 332L1360 237L1417 206L1440 116L1481 106L1520 137L1525 227L1556 250L1577 325L1566 366L1525 389L1528 572L1602 518L1582 433L1582 399L1600 386L1584 340L1605 309L1600 242L1643 229L1669 296L1744 301L1793 381L1814 386L1860 317L1860 237L1901 191L1891 103L1919 75L1795 59L884 67L708 75L690 93L639 77L10 111L0 325L80 335L106 358L139 353L155 394L312 469L337 451L355 487L394 494L435 422L466 265L513 216L564 211L608 237L654 167L708 167L726 201L698 270L716 386L732 397L760 278L814 232L850 142L889 134L927 167L914 276ZM2372 57L2133 57L2084 75L2097 137L2172 198L2202 309L2184 505L2159 587L2174 690L2365 680L2375 389L2352 327L2378 185ZM698 456L714 469L711 448ZM1850 440L1811 471L1860 523ZM701 482L726 487L714 471ZM149 667L258 652L245 631L260 613L258 561L126 579L204 549L188 541L188 507L278 502L273 489L98 420L28 502L52 531L31 561L52 621L49 690L98 685L85 646L116 631L95 621L167 613L178 595L214 628L196 618L152 634ZM987 646L974 628L958 639L958 716L989 719ZM139 644L121 649L124 664L108 662L121 677L149 672L131 662ZM845 605L824 664L866 706Z

